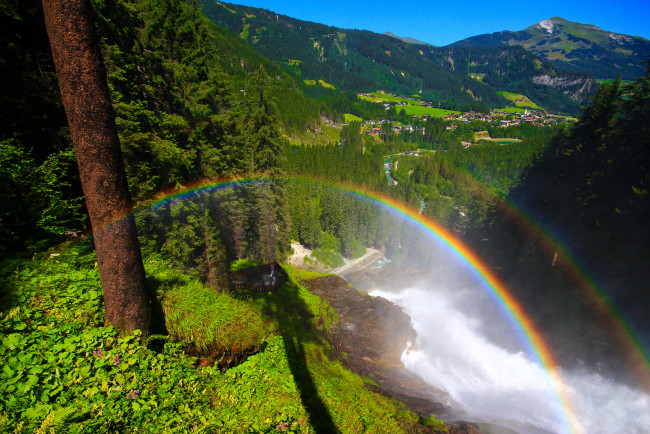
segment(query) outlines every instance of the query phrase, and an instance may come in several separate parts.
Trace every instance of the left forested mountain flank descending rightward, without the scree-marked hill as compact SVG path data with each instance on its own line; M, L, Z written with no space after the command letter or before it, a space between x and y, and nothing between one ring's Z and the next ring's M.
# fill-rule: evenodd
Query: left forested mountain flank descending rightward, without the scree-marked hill
M214 0L204 2L203 12L306 80L354 92L419 94L446 108L483 110L506 103L495 89L431 61L426 46Z

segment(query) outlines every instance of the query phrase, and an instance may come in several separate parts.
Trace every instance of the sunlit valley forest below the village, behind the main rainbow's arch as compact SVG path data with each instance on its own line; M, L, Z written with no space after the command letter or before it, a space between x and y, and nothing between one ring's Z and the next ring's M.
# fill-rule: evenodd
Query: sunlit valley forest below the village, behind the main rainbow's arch
M497 198L520 182L526 168L548 145L555 130L531 125L499 128L484 122L470 122L449 132L447 125L444 120L430 119L415 124L425 128L424 135L405 132L395 138L392 126L384 123L388 141L364 142L365 149L359 149L356 126L352 123L342 130L345 143L342 140L340 146L291 147L285 170L335 184L351 182L388 194L462 234L486 224ZM485 129L495 137L517 137L521 141L506 146L492 142L482 142L469 149L460 146L462 137L473 137L476 131ZM418 148L417 156L404 153ZM384 164L388 169L382 173L380 168ZM424 264L428 260L428 255L419 249L411 247L409 251L402 251L402 244L413 246L413 242L419 242L407 240L408 231L402 231L403 222L391 218L368 201L317 182L292 181L287 188L293 239L317 246L315 234L322 229L340 240L340 250L334 251L348 258L359 257L364 254L365 247L375 246L384 247L396 266L402 261ZM315 255L323 255L323 252L316 251Z

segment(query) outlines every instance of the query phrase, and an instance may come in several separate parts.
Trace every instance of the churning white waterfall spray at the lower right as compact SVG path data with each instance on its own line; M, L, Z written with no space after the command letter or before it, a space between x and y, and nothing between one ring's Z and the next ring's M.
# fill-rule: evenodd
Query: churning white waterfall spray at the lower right
M503 329L494 310L480 309L468 297L476 291L408 288L373 291L411 317L414 348L404 351L408 370L449 393L468 419L519 433L571 432L566 409L546 370L506 337L496 342L490 329ZM485 302L483 299L480 302ZM489 309L486 307L486 311ZM562 372L571 405L585 433L650 433L650 396L590 372Z

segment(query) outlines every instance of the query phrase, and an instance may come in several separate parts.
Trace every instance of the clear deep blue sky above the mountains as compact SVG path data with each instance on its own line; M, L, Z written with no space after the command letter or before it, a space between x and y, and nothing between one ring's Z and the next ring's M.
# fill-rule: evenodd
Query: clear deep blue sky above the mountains
M650 39L648 0L231 0L229 3L269 9L345 29L392 32L439 46L482 33L523 30L556 16Z

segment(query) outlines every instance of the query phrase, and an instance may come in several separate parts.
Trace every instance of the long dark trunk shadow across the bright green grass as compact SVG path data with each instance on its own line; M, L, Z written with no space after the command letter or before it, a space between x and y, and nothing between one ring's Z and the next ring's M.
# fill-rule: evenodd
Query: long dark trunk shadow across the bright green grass
M254 293L252 297L261 300L267 314L278 322L287 362L312 427L318 433L339 432L327 406L318 396L307 366L305 343L319 338L311 321L313 314L300 298L298 288L285 282L275 292Z

